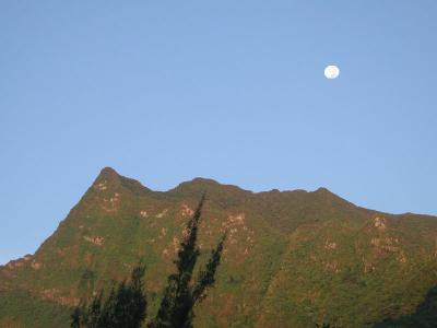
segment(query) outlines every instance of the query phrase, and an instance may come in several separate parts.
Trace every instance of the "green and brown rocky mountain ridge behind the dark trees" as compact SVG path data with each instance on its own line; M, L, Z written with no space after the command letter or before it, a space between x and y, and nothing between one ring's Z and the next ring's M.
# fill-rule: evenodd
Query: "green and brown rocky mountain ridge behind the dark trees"
M401 327L433 307L423 303L436 298L437 218L367 210L324 188L251 192L196 178L153 191L107 167L34 255L0 267L0 327L69 327L72 306L140 258L152 317L203 192L203 261L228 238L196 327Z

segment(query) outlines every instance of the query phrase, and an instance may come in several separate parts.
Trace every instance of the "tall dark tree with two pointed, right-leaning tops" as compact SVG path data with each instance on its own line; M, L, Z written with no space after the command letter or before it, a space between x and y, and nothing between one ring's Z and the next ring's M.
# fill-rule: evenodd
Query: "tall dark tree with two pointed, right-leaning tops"
M175 260L177 272L168 277L156 317L149 324L150 328L190 328L194 317L193 307L205 297L205 292L214 284L215 272L221 261L226 234L212 250L205 269L200 270L196 282L191 283L193 269L200 250L197 246L198 229L205 197L199 202L191 220L187 224L189 232L180 243L178 258Z

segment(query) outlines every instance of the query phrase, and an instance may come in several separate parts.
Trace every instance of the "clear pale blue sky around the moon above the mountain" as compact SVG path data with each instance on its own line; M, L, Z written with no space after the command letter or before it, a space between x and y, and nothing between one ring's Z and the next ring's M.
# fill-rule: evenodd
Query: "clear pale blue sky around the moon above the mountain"
M437 214L436 16L435 0L1 1L0 263L104 166Z

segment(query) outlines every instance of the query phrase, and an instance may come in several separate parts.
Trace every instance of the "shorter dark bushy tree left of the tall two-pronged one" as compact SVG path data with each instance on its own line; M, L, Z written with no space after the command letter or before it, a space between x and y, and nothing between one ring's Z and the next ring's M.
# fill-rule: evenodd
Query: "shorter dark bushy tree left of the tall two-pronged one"
M143 277L145 266L133 268L129 282L113 286L109 296L103 301L103 291L90 305L82 304L71 315L72 328L140 328L146 314L146 295Z

